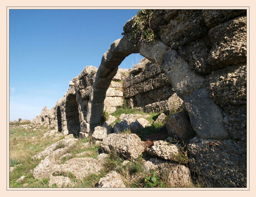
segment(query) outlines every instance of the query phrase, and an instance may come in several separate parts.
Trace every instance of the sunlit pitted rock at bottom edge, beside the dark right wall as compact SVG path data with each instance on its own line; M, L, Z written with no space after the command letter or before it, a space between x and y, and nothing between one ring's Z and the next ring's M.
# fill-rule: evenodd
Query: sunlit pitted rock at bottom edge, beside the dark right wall
M194 187L190 170L181 164L163 163L157 165L161 174L168 174L166 185L170 188Z

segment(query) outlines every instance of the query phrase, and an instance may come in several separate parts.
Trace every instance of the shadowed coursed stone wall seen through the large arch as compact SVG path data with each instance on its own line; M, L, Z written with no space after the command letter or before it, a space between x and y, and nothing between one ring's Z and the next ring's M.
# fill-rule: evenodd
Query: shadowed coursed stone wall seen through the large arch
M140 107L146 112L170 112L178 110L183 103L157 64L144 58L130 68L129 73L124 79L123 90L131 108ZM169 102L171 96L173 99ZM175 103L179 106L173 106Z

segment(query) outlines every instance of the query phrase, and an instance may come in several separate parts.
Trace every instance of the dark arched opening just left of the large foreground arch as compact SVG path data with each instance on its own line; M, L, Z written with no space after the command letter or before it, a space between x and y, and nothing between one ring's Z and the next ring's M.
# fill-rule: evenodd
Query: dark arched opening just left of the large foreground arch
M70 94L66 100L66 120L68 134L79 136L80 121L78 113L78 105L76 102L76 95Z

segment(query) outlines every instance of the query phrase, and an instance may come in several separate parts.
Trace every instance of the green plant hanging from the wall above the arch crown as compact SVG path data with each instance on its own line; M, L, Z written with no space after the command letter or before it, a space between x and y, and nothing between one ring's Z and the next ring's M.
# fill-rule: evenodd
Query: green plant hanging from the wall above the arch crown
M155 33L150 27L153 13L152 9L141 9L137 12L129 39L134 42L134 45L155 40Z

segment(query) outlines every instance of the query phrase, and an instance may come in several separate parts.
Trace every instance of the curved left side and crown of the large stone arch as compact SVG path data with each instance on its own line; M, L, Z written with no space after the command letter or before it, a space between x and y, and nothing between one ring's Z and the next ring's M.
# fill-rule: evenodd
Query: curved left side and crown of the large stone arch
M86 115L86 122L90 124L91 131L100 124L107 88L109 88L112 78L116 75L118 67L125 57L131 53L140 53L140 55L158 65L162 65L164 62L163 56L168 50L164 43L154 41L135 46L129 40L129 37L130 35L127 33L121 39L113 42L109 50L102 56L101 64L93 82L93 91L90 95Z

